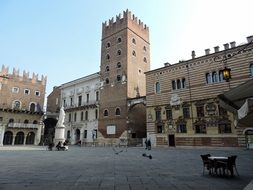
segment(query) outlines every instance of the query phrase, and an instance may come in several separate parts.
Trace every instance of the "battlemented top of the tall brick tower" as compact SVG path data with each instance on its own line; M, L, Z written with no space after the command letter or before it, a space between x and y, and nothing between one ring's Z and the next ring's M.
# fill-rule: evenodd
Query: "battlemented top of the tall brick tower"
M142 33L146 33L147 41L149 41L149 27L144 24L138 17L131 13L131 11L123 11L123 17L121 14L116 15L116 18L112 17L109 21L102 23L102 39L110 36L121 29L131 28L140 30Z

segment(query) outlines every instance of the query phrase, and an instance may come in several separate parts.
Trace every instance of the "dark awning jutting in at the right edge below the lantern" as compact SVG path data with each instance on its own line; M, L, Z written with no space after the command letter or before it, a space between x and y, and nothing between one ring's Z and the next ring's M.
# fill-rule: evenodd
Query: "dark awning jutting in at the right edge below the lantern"
M253 125L253 79L238 85L231 90L218 95L220 105L238 115L243 111L245 114L238 120L240 124Z

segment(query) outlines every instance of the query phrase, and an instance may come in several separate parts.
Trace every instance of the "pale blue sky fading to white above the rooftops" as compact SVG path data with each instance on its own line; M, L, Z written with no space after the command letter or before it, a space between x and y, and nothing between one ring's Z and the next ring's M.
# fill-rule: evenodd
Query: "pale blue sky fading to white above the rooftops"
M253 35L252 0L0 0L0 67L53 86L100 67L102 22L129 9L150 28L151 69Z

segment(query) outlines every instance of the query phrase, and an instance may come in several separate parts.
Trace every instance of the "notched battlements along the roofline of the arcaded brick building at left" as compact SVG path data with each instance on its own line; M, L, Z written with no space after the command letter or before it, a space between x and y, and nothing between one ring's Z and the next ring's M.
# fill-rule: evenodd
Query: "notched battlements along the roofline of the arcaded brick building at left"
M8 79L17 79L19 81L30 81L31 83L38 83L42 85L46 85L47 77L44 75L41 75L41 78L39 79L39 75L33 73L32 77L30 78L29 72L23 71L23 75L19 75L19 69L13 68L12 73L9 73L9 67L5 67L2 65L2 70L0 71L0 76Z

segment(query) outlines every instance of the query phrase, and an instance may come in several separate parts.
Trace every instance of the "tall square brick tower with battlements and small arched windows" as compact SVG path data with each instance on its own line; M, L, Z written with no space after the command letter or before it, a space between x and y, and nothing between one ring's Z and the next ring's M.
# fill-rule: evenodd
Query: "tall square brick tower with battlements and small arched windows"
M126 10L102 24L101 41L98 129L104 138L119 138L128 130L127 100L146 96L149 28Z

